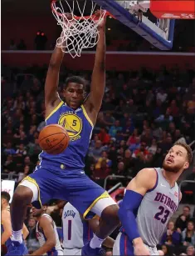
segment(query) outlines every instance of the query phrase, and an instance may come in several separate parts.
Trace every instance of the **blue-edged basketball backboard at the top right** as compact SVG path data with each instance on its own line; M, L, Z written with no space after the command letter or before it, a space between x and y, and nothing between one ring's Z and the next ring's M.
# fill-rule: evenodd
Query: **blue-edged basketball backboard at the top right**
M150 1L123 1L123 0L93 0L103 9L115 16L125 26L134 30L149 43L161 50L170 50L173 47L174 19L151 19L147 13ZM139 22L138 13L142 12L142 22ZM149 17L150 16L150 17Z

